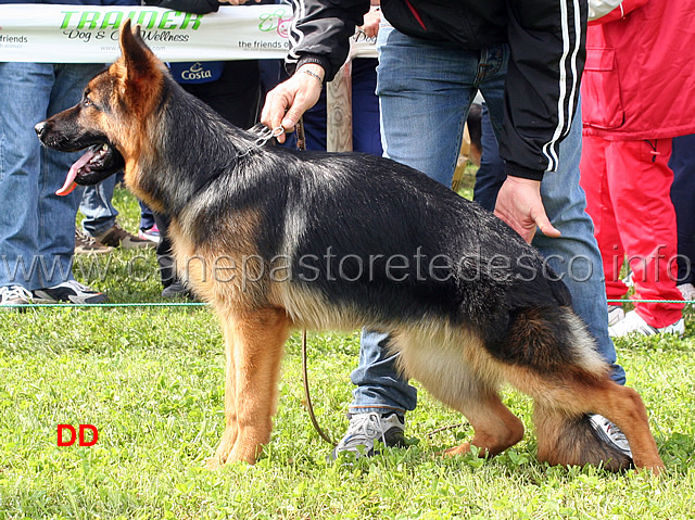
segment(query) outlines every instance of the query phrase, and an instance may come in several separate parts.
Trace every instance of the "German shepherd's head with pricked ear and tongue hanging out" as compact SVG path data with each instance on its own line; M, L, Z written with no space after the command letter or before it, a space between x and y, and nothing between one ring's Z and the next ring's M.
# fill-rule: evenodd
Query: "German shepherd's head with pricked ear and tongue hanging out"
M137 162L144 142L143 126L163 90L165 66L142 41L140 26L126 20L121 28L122 55L85 88L72 109L38 123L41 142L62 152L87 150L71 167L56 192L94 185Z

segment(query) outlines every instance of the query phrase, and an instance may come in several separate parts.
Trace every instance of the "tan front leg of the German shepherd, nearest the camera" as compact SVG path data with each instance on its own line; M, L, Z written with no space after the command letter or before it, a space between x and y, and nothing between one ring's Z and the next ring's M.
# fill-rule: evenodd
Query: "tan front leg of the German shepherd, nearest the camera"
M280 360L290 320L285 309L266 308L239 314L231 328L233 375L229 375L228 368L226 382L233 384L233 391L225 392L228 424L217 455L220 462L254 464L263 445L270 440ZM230 446L232 437L233 446Z

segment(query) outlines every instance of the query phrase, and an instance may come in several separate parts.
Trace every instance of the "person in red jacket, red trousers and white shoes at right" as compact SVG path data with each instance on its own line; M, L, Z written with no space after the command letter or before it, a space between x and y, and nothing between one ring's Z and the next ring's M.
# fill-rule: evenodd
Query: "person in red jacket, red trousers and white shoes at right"
M695 131L695 61L682 52L695 49L695 25L686 22L695 15L695 0L602 3L608 13L586 33L581 186L608 299L628 291L620 275L627 255L634 299L662 301L634 302L628 314L611 305L609 332L682 335L668 164L672 138Z

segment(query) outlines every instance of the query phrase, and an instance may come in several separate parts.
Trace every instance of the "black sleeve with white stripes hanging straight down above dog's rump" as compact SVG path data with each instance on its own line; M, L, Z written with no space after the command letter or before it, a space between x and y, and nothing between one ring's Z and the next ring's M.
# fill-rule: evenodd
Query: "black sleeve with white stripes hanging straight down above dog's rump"
M584 67L586 2L510 1L500 154L508 175L541 180L558 164Z

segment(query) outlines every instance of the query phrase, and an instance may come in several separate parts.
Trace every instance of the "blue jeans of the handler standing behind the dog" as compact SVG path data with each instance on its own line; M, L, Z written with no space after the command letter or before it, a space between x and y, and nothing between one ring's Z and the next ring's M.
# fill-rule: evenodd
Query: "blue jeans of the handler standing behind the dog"
M409 38L388 25L379 30L377 48L384 155L451 186L468 106L477 89L485 98L498 134L508 48L465 51ZM579 187L579 110L570 136L560 144L560 156L559 169L546 174L541 191L547 215L563 234L548 239L536 233L533 244L563 276L572 293L574 310L596 338L598 351L612 365L614 380L622 384L624 371L616 365L616 351L608 337L601 253ZM570 262L572 258L578 259ZM384 348L388 341L386 333L363 330L359 367L351 375L357 385L351 411L415 409L416 390L399 376L395 356Z

